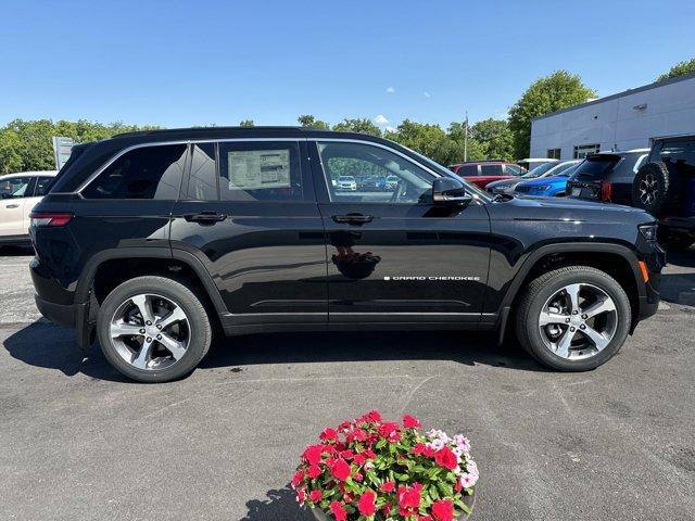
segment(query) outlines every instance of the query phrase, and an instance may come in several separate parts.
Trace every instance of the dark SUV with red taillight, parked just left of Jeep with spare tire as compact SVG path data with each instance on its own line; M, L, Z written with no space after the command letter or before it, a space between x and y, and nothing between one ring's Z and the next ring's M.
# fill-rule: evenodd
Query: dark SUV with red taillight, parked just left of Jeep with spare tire
M567 182L572 198L632 204L632 181L649 149L591 154Z

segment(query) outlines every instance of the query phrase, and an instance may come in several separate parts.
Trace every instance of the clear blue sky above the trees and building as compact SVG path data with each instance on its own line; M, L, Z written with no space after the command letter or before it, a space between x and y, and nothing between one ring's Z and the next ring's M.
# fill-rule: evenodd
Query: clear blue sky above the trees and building
M0 125L446 126L558 68L601 96L648 84L695 56L694 26L692 0L3 0Z

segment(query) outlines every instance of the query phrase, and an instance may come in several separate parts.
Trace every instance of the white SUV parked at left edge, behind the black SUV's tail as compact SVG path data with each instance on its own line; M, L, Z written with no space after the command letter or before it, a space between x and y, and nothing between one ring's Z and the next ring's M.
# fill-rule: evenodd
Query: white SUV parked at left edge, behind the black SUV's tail
M0 246L28 245L29 214L58 171L0 176Z

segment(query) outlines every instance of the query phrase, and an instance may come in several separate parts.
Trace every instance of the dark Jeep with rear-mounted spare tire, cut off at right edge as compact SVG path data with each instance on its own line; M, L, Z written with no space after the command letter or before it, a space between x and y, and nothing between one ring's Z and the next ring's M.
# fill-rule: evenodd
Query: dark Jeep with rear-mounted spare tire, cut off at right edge
M664 243L695 242L695 136L654 140L631 188L632 205L659 217Z

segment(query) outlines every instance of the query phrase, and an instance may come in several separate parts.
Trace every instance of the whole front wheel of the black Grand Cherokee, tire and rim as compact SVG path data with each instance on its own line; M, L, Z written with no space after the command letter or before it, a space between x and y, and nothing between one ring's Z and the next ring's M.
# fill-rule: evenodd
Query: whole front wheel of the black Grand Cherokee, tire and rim
M618 353L630 323L630 301L612 277L590 266L570 266L528 285L516 326L521 345L542 364L585 371Z

